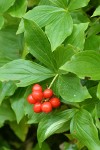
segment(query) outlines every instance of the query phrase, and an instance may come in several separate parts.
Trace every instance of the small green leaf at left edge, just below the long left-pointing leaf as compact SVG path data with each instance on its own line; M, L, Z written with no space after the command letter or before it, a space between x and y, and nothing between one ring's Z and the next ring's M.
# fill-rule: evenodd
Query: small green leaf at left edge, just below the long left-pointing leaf
M11 81L0 82L0 105L6 96L14 94L16 88L16 85Z

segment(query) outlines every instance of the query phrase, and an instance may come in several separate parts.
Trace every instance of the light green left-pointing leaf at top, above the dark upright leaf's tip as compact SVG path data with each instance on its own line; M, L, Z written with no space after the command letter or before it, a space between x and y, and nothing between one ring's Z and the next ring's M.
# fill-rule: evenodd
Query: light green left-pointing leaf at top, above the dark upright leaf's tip
M25 14L24 18L36 22L40 27L44 27L55 19L57 20L59 18L59 15L63 12L65 12L63 8L42 5L28 11Z

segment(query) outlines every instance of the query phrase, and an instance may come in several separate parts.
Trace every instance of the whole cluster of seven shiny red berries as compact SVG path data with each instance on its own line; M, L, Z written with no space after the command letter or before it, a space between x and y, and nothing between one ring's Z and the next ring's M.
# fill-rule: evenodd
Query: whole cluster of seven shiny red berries
M32 93L28 95L27 101L34 104L33 111L36 113L49 113L53 108L60 106L60 100L54 96L52 89L47 88L43 91L39 84L32 87Z

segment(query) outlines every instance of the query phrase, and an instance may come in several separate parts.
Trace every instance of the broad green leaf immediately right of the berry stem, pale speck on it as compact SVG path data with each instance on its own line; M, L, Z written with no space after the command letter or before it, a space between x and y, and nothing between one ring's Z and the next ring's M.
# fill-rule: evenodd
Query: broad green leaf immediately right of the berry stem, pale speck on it
M72 74L59 76L59 92L64 102L82 102L91 98L86 87L83 87L79 78Z

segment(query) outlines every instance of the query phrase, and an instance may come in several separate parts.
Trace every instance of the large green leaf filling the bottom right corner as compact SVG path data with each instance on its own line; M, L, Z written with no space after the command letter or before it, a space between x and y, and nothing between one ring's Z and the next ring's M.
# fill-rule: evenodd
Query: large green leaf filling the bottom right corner
M88 111L81 109L75 114L71 121L70 130L73 136L89 150L100 149L98 131Z

